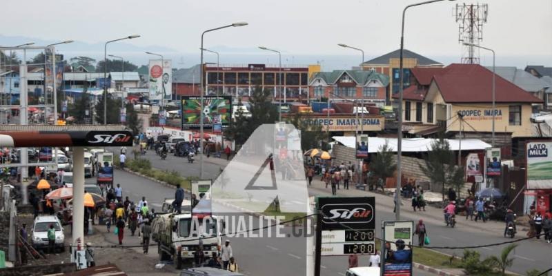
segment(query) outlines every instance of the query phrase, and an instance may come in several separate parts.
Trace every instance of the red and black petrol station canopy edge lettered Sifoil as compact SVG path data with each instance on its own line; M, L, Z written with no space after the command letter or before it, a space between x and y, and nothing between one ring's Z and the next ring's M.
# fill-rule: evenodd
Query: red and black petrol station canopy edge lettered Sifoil
M2 147L132 146L132 132L125 126L2 126Z

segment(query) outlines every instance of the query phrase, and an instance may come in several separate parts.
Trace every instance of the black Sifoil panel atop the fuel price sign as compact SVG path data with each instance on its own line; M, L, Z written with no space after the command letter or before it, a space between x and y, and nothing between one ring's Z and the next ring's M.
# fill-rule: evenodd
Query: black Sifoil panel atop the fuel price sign
M319 197L322 230L375 228L374 197Z

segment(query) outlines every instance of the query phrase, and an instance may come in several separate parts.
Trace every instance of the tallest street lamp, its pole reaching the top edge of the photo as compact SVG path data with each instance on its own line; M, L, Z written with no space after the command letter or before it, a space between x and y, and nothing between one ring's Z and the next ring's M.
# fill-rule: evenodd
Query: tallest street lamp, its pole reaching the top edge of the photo
M401 24L401 49L400 49L400 71L399 71L399 75L400 75L400 83L399 83L399 124L398 124L398 131L397 131L397 189L395 190L395 193L397 193L396 197L397 197L397 202L395 202L395 206L397 206L396 210L395 210L395 219L398 221L400 220L400 210L401 210L401 204L400 204L400 198L401 198L401 194L400 194L400 190L401 190L401 180L402 180L402 177L401 177L401 155L402 155L402 83L403 83L403 77L404 77L404 73L402 72L403 71L403 64L402 64L402 56L403 56L403 49L404 49L404 14L406 14L406 10L408 8L412 8L412 7L415 7L415 6L422 6L422 5L425 5L425 4L428 4L428 3L435 3L435 2L440 2L440 1L444 1L444 0L431 0L431 1L424 1L424 2L420 2L420 3L414 3L414 4L411 4L411 5L408 5L406 7L404 7L404 10L402 10L402 24ZM449 1L454 1L454 0L449 0Z

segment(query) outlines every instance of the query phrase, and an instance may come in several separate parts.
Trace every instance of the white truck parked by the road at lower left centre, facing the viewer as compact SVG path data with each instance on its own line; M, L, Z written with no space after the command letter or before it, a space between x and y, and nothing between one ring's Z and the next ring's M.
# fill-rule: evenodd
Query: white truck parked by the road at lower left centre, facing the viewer
M193 260L200 244L205 256L213 252L218 254L221 248L219 225L224 227L217 217L205 214L157 215L152 221L152 239L157 242L159 259L172 259L176 268L181 269L184 261Z

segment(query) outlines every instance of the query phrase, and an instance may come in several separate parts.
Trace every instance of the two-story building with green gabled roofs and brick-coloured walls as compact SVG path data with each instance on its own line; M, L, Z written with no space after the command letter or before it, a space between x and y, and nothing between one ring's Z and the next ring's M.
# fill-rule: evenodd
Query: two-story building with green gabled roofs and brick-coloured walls
M317 72L308 83L308 95L311 99L325 97L337 101L363 99L384 106L388 84L389 77L375 71Z

